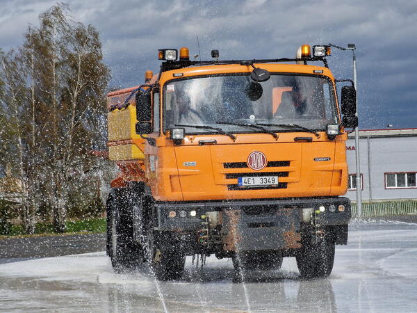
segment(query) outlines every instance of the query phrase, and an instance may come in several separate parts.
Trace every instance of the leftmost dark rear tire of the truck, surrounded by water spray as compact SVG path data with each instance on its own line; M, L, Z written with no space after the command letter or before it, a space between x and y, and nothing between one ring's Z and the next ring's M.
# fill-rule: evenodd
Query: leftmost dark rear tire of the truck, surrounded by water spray
M133 240L133 225L129 207L123 205L123 196L116 200L114 194L108 198L108 255L116 273L133 271L142 262L143 251Z

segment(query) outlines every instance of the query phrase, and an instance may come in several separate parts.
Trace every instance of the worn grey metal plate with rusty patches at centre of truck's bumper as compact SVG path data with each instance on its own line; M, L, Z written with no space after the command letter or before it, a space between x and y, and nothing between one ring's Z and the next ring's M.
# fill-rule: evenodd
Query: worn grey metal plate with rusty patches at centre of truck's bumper
M277 209L274 214L223 211L224 251L301 248L301 209Z

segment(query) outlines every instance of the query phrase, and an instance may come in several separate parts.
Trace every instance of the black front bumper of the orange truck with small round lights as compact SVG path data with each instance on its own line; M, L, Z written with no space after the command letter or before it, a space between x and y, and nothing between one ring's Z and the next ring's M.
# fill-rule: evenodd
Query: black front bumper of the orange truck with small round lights
M345 206L344 211L329 211L329 206L334 204ZM240 211L240 218L243 218L243 225L284 225L302 222L302 209L318 210L320 206L325 211L317 214L320 218L320 225L345 225L349 223L351 214L350 200L340 198L290 198L272 200L234 200L234 201L210 201L210 202L156 202L155 230L174 232L194 232L201 229L202 219L206 212L211 211ZM175 217L169 216L170 211L175 211ZM180 212L185 211L184 217ZM190 212L195 211L195 216ZM288 213L289 212L289 213ZM227 216L227 214L226 214ZM291 216L291 223L286 220ZM288 218L287 218L288 219ZM269 224L268 224L269 223ZM262 228L262 227L251 227Z

